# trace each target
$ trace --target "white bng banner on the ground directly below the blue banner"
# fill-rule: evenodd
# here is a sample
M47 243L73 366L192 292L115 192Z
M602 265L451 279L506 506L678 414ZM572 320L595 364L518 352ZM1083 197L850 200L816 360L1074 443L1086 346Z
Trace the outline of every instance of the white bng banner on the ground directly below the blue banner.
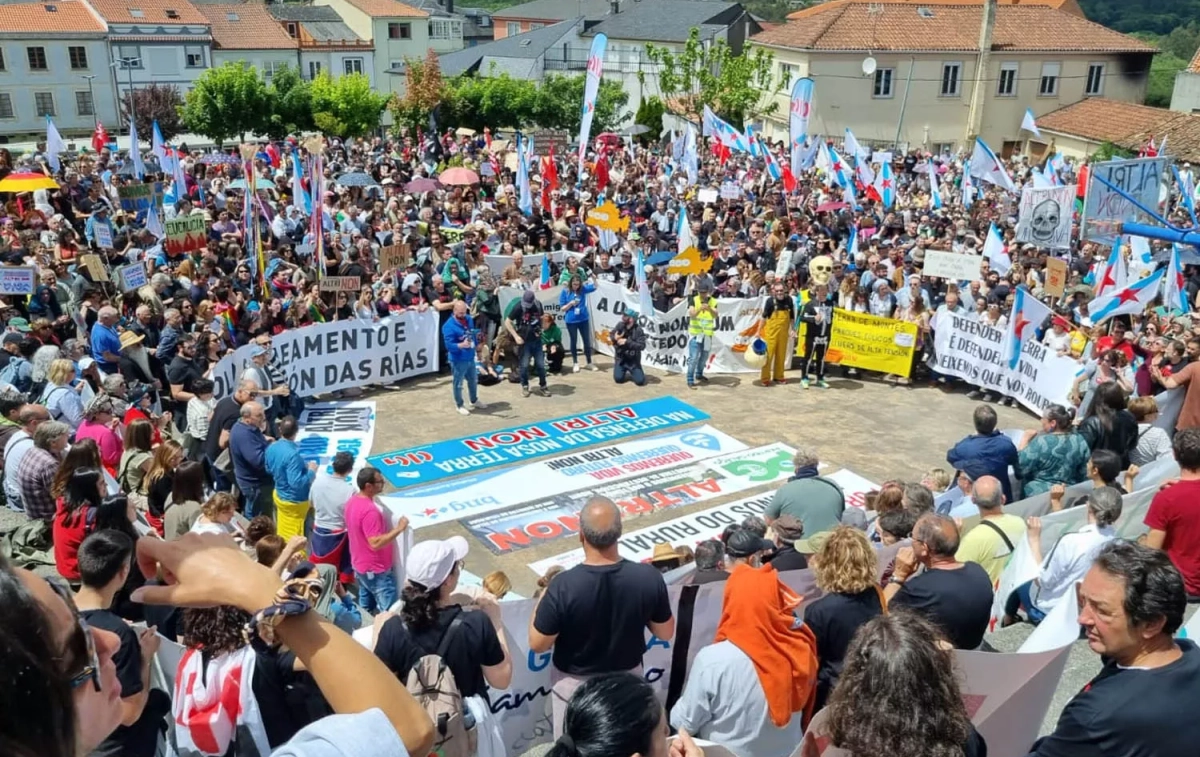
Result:
M733 464L745 449L746 445L737 439L701 426L403 489L380 497L380 501L396 517L404 516L414 529L420 529L504 510L538 497L557 497L589 487L625 492L618 482L635 476L686 469L698 477L704 470L701 461L718 458L710 464L715 465L718 461Z

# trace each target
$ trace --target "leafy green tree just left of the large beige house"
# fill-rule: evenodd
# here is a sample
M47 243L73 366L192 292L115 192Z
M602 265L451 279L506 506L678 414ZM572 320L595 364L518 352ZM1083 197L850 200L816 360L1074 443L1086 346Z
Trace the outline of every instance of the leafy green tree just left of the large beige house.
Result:
M706 46L692 29L682 50L647 43L646 54L660 66L659 89L671 110L694 121L706 104L737 127L779 109L775 95L786 82L773 77L775 56L761 47L734 55L725 40Z

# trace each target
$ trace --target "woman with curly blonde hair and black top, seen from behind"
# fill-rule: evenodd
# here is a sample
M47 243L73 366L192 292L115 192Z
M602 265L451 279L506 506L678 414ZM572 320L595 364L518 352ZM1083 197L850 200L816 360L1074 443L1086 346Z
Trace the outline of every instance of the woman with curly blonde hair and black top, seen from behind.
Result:
M902 511L895 511L902 512ZM812 555L812 573L824 595L804 608L804 625L817 639L816 709L829 701L854 633L884 612L878 557L866 535L845 525L834 529Z

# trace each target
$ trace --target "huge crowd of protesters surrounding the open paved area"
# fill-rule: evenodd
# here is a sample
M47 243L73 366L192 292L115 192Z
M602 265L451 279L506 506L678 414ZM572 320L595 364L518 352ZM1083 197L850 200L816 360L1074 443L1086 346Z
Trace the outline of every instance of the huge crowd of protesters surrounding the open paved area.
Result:
M162 217L157 206L121 209L122 186L160 178L137 175L128 156L108 150L54 156L64 163L58 188L2 197L0 259L37 277L28 296L0 302L4 495L29 518L16 560L41 547L62 581L0 566L0 603L11 609L0 620L8 639L0 752L149 756L170 723L162 738L181 753L425 755L434 740L445 746L446 729L432 727L427 698L404 683L412 690L422 659L437 654L463 698L446 714L451 732L473 733L469 747L450 741L466 749L455 755L503 755L503 743L485 738L496 729L490 692L512 680L494 596L503 589L460 585L461 539L418 542L397 585L394 545L408 523L386 523L380 473L352 475L344 453L318 471L294 441L302 401L272 352L286 330L432 308L439 367L452 373L455 409L467 414L481 405L480 385L510 378L530 396L547 392L548 374L599 367L588 298L601 281L640 290L644 274L655 312L688 306L692 389L708 383L714 296L763 298L768 344L805 325L803 387L830 386L823 340L833 306L917 324L911 377L883 378L949 386L924 367L941 316L1002 328L1016 287L1043 296L1054 254L1068 258L1069 281L1062 298L1046 298L1055 317L1039 338L1080 361L1072 387L1080 407L1054 405L1039 429L1004 444L995 411L980 405L977 434L948 455L953 475L882 487L870 523L818 475L815 453L798 455L769 518L696 546L696 578L725 582L724 609L667 713L636 675L646 631L676 633L666 584L653 566L619 557L618 509L589 501L586 559L547 577L529 623L529 649L553 649L552 752L695 757L692 732L738 755L784 757L816 723L856 755L986 753L949 650L980 647L1004 559L1015 540L1037 542L1038 522L1003 512L1021 493L1009 470L1025 494L1049 492L1055 510L1086 507L1087 525L1007 597L1006 623L1022 612L1037 621L1078 583L1079 621L1105 659L1034 753L1182 755L1200 743L1186 693L1200 656L1171 638L1188 597L1200 596L1194 269L1184 271L1186 311L1093 324L1087 300L1108 248L1015 244L1015 198L992 185L970 206L953 199L932 209L930 173L958 194L965 161L919 151L898 154L892 206L866 194L839 206L845 192L818 169L787 191L761 158L722 150L704 150L690 181L665 143L600 142L583 174L569 158L553 172L535 166L528 188L491 134L329 140L320 192L293 175L293 152L301 164L316 157L295 140L259 145L246 176L238 157L172 150L184 181L162 178L172 198ZM50 157L0 150L0 179L53 173ZM437 178L436 162L461 163L478 181L414 185ZM1032 181L1026 160L1009 168ZM1055 170L1069 184L1085 167ZM1186 214L1180 187L1193 186L1184 172L1166 198L1176 218ZM341 181L347 174L367 180ZM698 199L697 187L725 182L737 199ZM263 187L251 202L239 188L247 184ZM586 223L606 200L629 217L629 232ZM204 218L200 250L168 248L151 230L185 215ZM991 223L1004 265L985 260L968 282L922 275L925 251L980 253ZM636 270L677 250L680 234L710 262L704 274ZM380 270L380 250L396 245L402 265ZM550 257L548 277L523 265L536 253ZM490 254L509 256L498 276ZM121 292L113 271L139 262L148 283ZM322 292L325 276L358 278L358 294ZM550 282L563 286L566 344L538 302ZM523 290L503 311L502 286ZM644 383L641 324L653 317L626 311L614 331L616 380ZM250 347L250 361L217 398L214 371L239 347ZM772 358L762 385L786 381L787 361ZM1177 386L1186 397L1176 427L1159 428L1153 397ZM1114 539L1121 492L1139 465L1165 457L1182 475L1151 505L1145 546ZM1084 501L1063 501L1064 487L1088 480L1096 488ZM980 516L980 525L962 533L964 516ZM895 545L881 566L880 549ZM799 597L776 570L803 567L823 596L799 623ZM374 654L344 633L364 625L364 613L374 619ZM150 685L154 630L186 648L170 692ZM235 702L214 713L233 690ZM671 728L679 738L668 744Z

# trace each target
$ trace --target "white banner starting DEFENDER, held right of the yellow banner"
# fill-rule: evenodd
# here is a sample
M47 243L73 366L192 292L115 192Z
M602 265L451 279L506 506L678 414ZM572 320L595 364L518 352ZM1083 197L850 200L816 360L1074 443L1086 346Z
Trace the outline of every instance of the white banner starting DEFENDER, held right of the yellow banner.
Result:
M1030 340L1021 346L1016 368L1003 359L1004 332L964 316L943 313L934 341L935 371L1004 397L1013 397L1039 415L1051 404L1070 405L1067 395L1079 364Z

